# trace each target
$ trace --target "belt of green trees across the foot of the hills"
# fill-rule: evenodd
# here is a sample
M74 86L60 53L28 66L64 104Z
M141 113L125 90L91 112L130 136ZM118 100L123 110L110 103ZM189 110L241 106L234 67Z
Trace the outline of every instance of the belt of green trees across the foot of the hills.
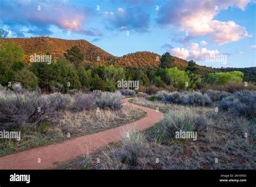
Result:
M35 40L39 39L35 38ZM43 40L48 40L48 38ZM104 54L103 59L102 56L99 56L99 63L88 64L84 62L90 60L91 57L88 59L83 47L79 48L74 45L65 50L65 58L56 58L55 56L51 63L33 62L28 65L26 63L28 59L26 59L21 46L2 41L0 47L0 84L11 88L15 82L20 82L23 88L30 90L35 90L38 85L46 93L54 92L58 84L63 84L61 90L63 93L73 89L114 92L117 90L118 81L131 80L139 81L139 91L155 94L160 90L191 91L211 86L225 87L230 83L241 83L244 76L240 71L228 71L226 73L204 71L205 69L199 67L193 60L188 63L180 61L183 64L181 68L176 63L178 58L169 53L159 56L146 52L148 55L146 56L139 52L124 55L119 60L113 57L112 61L110 60L111 63L106 63L108 55ZM43 53L40 54L43 55ZM51 55L49 52L45 52L45 54ZM137 61L143 58L145 61L150 58L158 64L157 66L142 68L117 66L122 59L132 61L131 57L134 55L139 56ZM93 61L97 61L97 59L93 59ZM133 62L129 63L133 64ZM252 84L248 83L248 85ZM244 89L255 90L256 88L255 86L248 86Z

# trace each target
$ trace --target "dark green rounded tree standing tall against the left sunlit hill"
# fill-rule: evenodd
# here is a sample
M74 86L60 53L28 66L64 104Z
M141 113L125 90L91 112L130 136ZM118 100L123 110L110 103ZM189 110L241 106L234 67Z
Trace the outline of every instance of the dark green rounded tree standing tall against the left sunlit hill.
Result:
M84 54L77 46L73 46L71 49L68 49L66 53L64 53L64 56L70 62L75 64L76 67L84 61Z

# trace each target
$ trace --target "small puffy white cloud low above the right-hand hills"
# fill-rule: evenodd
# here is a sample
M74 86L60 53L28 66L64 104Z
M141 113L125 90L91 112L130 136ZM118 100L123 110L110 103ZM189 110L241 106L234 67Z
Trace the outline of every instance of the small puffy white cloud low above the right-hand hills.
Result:
M203 47L200 48L197 43L191 44L188 49L186 48L172 48L170 53L174 56L178 56L181 59L185 60L205 60L206 56L214 56L214 55L219 55L218 50L208 50L207 48Z

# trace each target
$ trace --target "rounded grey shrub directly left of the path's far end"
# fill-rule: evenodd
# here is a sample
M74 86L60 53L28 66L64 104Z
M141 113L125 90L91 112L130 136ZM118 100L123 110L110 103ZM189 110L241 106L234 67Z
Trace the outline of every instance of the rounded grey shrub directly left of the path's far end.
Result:
M122 95L119 91L116 92L101 92L95 99L95 104L100 108L109 108L119 110L122 107Z

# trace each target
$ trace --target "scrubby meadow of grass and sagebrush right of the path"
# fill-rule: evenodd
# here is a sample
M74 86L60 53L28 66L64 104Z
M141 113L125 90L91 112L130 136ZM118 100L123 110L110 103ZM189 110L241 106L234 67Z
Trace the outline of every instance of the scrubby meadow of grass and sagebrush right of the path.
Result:
M160 91L132 103L159 109L164 119L61 169L255 169L256 92ZM218 110L216 110L218 109ZM197 140L175 132L196 131ZM98 162L100 160L100 162Z

